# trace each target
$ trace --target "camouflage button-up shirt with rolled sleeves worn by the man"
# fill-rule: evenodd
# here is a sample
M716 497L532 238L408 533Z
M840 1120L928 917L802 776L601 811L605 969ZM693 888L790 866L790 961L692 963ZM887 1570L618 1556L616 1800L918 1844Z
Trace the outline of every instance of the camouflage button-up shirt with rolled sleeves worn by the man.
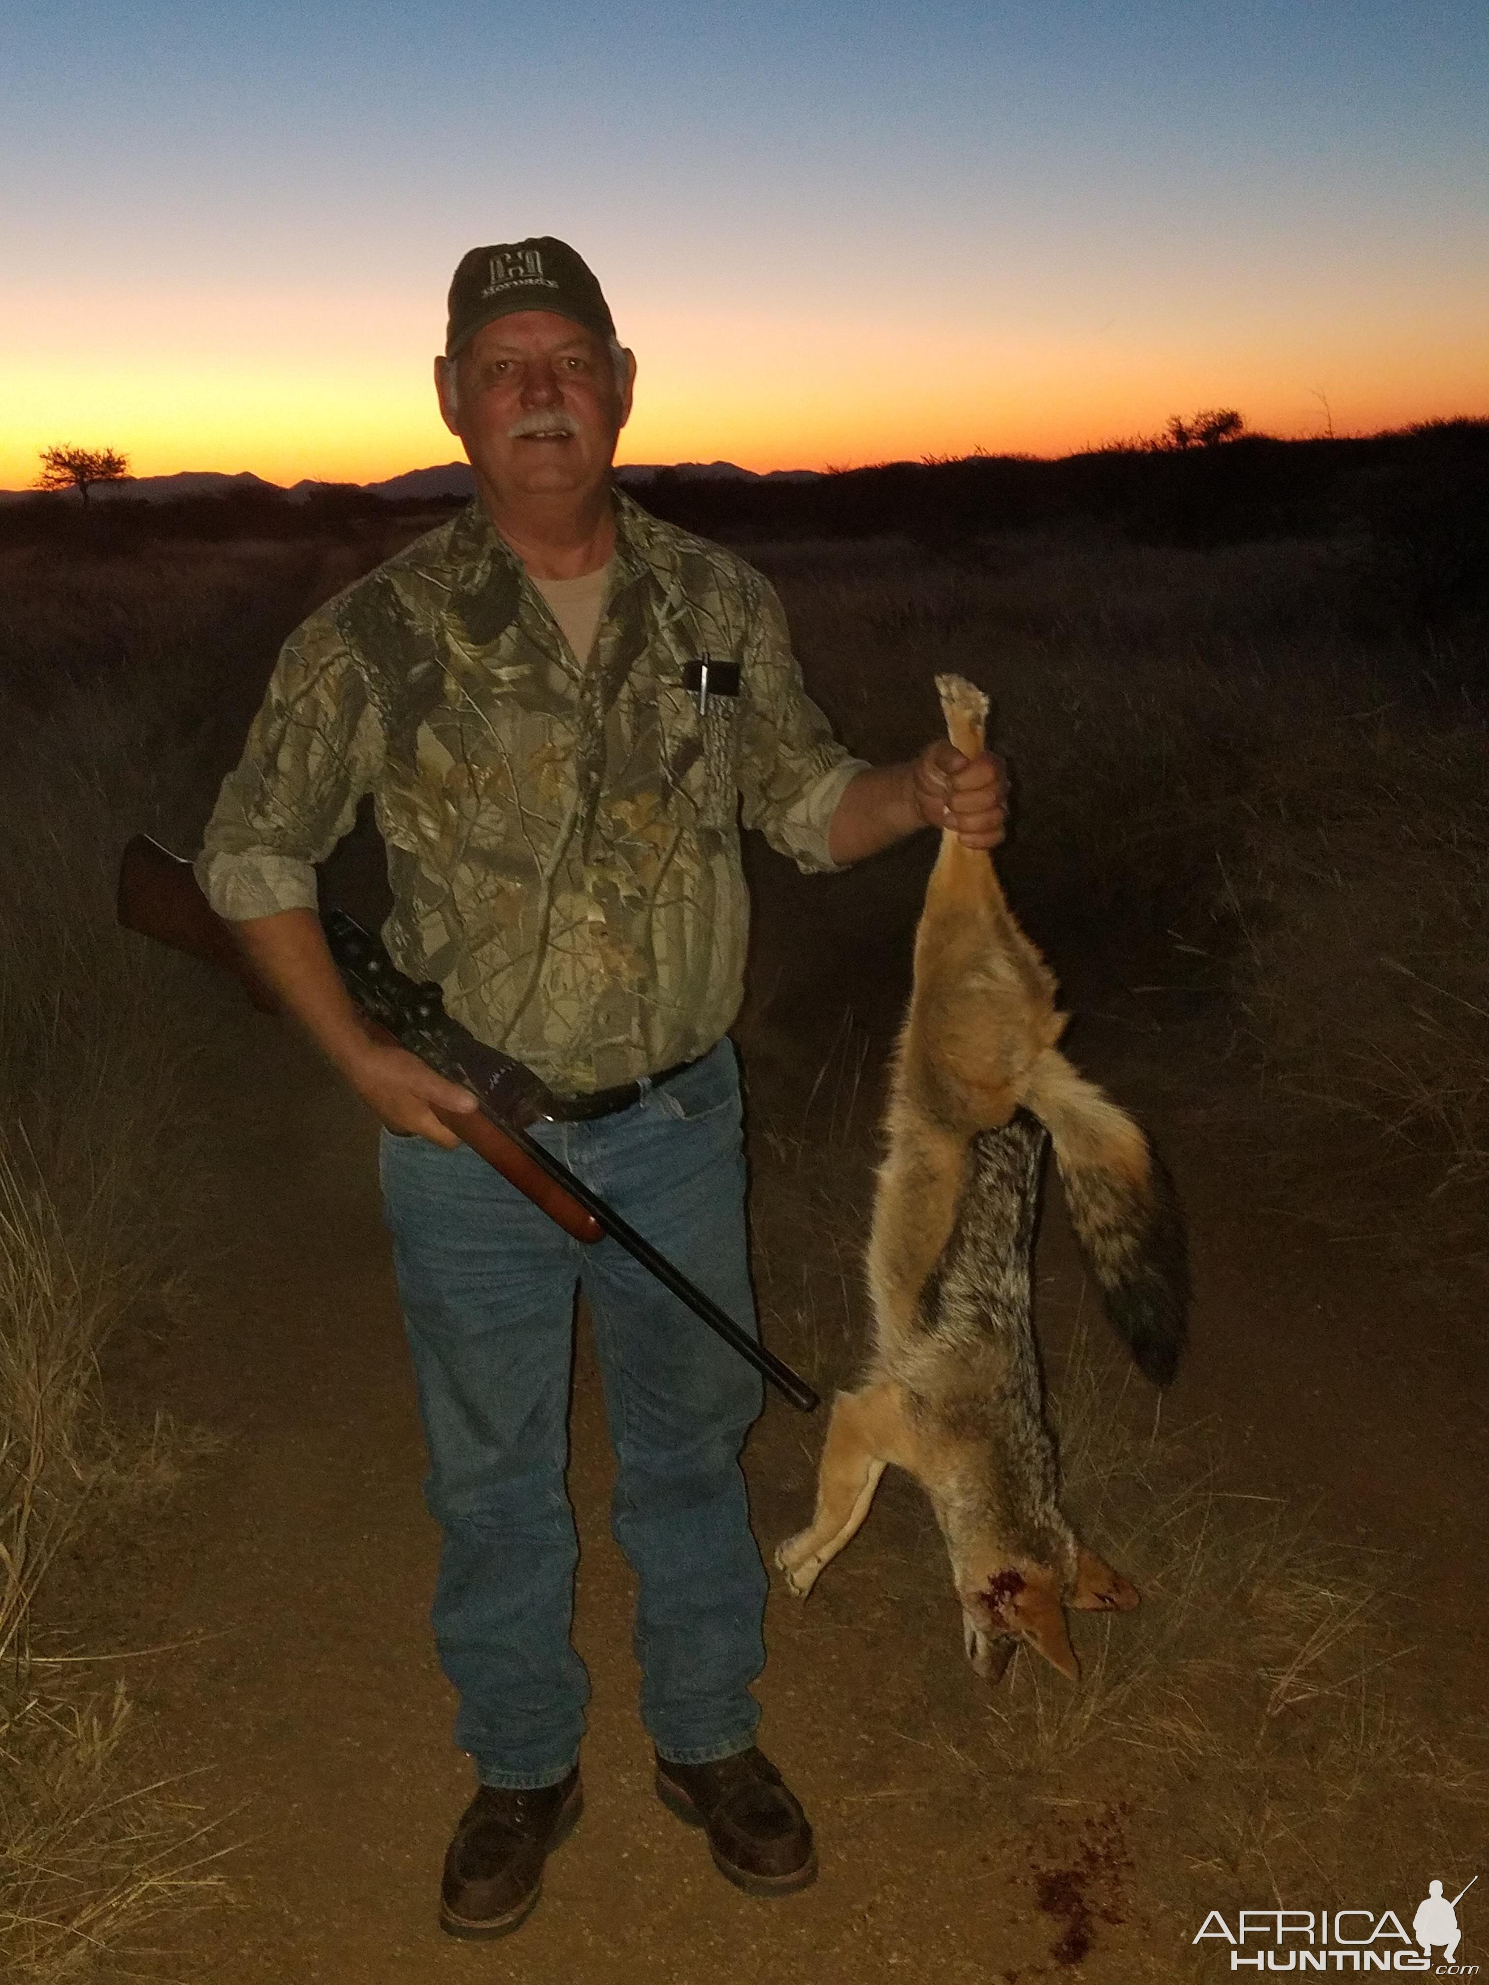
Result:
M615 494L588 667L471 504L284 645L197 873L230 919L316 905L373 796L401 971L556 1090L691 1060L744 975L741 814L804 869L862 760L802 689L768 582ZM687 665L739 663L739 695ZM715 671L717 675L717 671Z

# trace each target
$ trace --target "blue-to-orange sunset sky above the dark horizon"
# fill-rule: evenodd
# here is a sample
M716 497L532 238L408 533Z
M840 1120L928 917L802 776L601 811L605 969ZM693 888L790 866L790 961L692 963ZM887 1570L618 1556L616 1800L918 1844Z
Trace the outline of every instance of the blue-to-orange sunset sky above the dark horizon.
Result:
M1485 0L0 4L0 486L459 453L476 242L560 234L621 461L1489 413Z

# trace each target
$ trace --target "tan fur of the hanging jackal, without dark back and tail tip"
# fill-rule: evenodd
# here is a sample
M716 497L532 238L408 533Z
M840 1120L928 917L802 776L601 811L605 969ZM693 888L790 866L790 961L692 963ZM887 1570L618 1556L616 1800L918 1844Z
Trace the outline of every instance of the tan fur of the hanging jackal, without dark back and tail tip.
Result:
M961 677L937 677L937 689L951 742L975 756L987 697ZM1018 1108L1048 1127L1068 1189L1094 1181L1104 1219L1086 1237L1090 1253L1106 1249L1120 1262L1134 1245L1134 1209L1153 1189L1148 1141L1056 1050L1064 1016L1054 991L991 858L943 834L883 1125L887 1155L868 1245L870 1368L834 1401L812 1522L776 1552L786 1584L804 1598L868 1517L883 1469L905 1469L947 1540L969 1659L993 1679L1018 1644L1074 1679L1064 1606L1138 1604L1054 1505L1052 1443L1036 1380L1018 1364L1016 1332L957 1334L921 1314L959 1219L973 1139L1009 1125ZM1048 1487L1022 1497L1024 1475Z

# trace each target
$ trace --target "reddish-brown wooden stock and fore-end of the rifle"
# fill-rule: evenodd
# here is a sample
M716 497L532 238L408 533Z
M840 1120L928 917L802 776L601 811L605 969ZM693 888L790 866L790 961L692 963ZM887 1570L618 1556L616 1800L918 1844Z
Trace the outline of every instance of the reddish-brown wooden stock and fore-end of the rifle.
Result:
M173 951L185 951L234 973L260 1012L284 1012L284 1002L248 963L232 925L218 917L203 895L191 861L173 856L149 834L135 834L125 846L119 863L119 923L125 931L155 939L157 945L169 945ZM365 1014L363 1026L373 1040L399 1046L385 1026ZM435 1110L435 1116L461 1143L469 1143L510 1185L526 1193L566 1235L576 1241L598 1241L604 1235L594 1213L550 1179L490 1118L453 1116L443 1110Z

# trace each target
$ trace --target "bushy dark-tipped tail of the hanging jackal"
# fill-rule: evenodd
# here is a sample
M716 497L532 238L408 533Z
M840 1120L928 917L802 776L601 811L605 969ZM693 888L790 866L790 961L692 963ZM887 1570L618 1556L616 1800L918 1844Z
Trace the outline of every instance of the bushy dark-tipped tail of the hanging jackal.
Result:
M1167 1167L1126 1110L1054 1048L1036 1058L1020 1102L1050 1133L1106 1314L1144 1378L1167 1386L1189 1306L1189 1253Z

